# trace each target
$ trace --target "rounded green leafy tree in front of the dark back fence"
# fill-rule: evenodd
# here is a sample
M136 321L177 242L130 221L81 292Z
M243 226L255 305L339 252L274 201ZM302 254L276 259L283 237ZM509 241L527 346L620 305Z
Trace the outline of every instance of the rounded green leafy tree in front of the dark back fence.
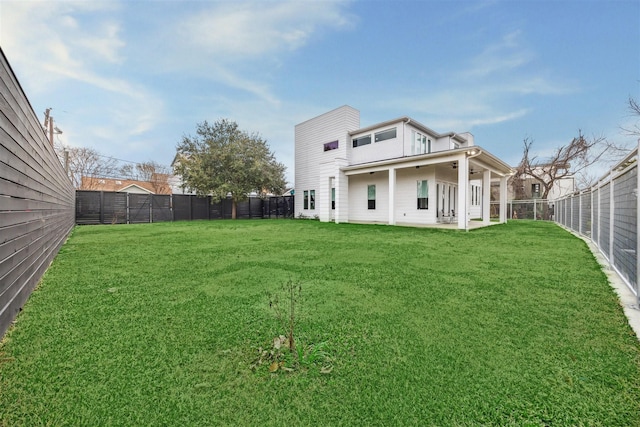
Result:
M174 171L182 176L185 188L213 200L231 196L234 219L237 202L250 193L280 194L285 189L285 166L276 161L267 142L240 130L233 121L199 123L196 135L184 136L177 152Z

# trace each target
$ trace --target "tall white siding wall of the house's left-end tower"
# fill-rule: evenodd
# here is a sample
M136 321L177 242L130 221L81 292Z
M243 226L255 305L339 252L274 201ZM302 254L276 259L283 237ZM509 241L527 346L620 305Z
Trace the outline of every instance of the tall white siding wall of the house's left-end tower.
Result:
M329 215L331 189L326 190L330 176L338 176L339 166L347 159L351 144L348 132L360 128L360 112L347 105L336 108L295 127L295 213L307 217ZM324 151L324 144L338 141L338 149ZM321 173L322 172L322 173ZM338 183L345 180L337 180ZM304 191L315 190L315 209L303 209ZM322 191L321 191L322 190ZM346 188L341 189L345 197ZM336 188L336 193L338 189Z

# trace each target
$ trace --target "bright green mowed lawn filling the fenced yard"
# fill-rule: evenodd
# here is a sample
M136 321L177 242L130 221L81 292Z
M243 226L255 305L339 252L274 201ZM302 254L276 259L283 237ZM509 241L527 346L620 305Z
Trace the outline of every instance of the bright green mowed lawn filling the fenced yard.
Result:
M251 369L296 337L333 369ZM640 346L584 242L316 221L74 230L0 347L0 425L640 425Z

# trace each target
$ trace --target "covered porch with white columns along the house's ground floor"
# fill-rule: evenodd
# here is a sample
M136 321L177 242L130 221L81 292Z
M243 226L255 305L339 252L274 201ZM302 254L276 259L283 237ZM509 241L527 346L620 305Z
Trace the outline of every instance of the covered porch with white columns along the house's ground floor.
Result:
M335 213L331 216L336 222L463 230L489 226L496 223L490 218L491 183L498 182L498 200L493 202L500 203L497 223L504 223L507 220L507 179L512 173L509 165L479 146L344 166L340 168L337 179L329 184L334 186L335 193L343 196L336 198L338 202L333 205ZM420 179L428 182L428 188L424 190L428 205L416 210L415 183ZM363 210L358 213L352 206L356 205L353 196L348 196L354 190L362 193L362 183L365 182L377 182L379 193L382 193L377 196L381 203L375 215ZM339 201L349 202L348 218L342 214L344 204Z

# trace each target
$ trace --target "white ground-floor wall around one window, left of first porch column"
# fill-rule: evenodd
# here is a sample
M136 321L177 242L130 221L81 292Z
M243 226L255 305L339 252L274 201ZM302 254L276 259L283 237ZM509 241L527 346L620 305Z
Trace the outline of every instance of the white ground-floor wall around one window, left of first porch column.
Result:
M376 208L368 208L368 186L376 186ZM397 197L396 197L397 200ZM387 224L389 221L389 174L349 176L349 222Z

